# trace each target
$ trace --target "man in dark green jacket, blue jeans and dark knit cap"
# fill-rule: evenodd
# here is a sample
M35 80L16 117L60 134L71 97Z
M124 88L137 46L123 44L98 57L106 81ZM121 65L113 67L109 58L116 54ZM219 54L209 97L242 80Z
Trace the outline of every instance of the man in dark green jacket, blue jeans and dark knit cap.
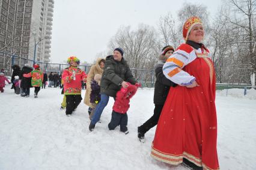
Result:
M121 87L127 88L130 82L133 85L136 83L130 71L129 65L123 58L124 51L121 48L116 48L113 55L106 57L102 80L100 82L100 97L101 100L95 108L93 119L91 120L89 130L93 131L95 124L99 121L103 109L108 105L109 96L114 97Z

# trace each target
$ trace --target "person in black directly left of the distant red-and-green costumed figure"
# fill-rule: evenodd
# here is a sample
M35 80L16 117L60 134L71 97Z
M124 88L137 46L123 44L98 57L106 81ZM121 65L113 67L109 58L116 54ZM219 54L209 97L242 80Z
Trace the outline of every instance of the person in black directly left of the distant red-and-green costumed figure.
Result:
M25 64L22 67L22 70L20 71L19 79L21 80L20 88L22 90L22 93L20 93L20 96L22 96L22 97L29 97L30 88L32 87L31 86L31 77L23 77L23 74L28 74L32 70L33 70L32 67L29 67L28 64Z

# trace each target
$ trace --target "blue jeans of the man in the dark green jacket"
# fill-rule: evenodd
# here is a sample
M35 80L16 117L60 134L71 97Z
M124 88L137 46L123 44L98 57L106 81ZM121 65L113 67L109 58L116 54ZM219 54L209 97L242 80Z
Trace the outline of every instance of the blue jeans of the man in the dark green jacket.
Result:
M101 94L100 103L95 108L95 112L93 115L93 120L91 120L92 124L96 124L97 121L100 120L100 116L102 115L103 109L108 105L109 96L106 94Z

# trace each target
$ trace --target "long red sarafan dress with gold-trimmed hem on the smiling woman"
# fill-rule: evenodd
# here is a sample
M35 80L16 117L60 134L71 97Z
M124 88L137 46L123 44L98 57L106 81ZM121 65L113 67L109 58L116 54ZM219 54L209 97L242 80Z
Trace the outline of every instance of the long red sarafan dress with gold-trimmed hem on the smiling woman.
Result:
M178 165L184 157L204 169L219 169L216 149L216 80L208 52L207 49L195 50L185 44L176 51L180 59L175 59L175 52L174 59L168 59L176 65L183 65L181 58L187 61L194 53L195 58L181 68L193 75L200 86L171 87L152 144L151 156L157 160ZM173 76L178 71L172 71L169 75Z

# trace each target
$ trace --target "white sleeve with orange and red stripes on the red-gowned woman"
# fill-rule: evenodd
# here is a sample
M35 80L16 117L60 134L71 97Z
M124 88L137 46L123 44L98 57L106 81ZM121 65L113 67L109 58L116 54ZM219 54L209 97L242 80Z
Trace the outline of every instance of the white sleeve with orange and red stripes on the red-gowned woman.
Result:
M182 68L194 61L197 55L194 49L188 44L181 44L177 50L166 60L163 65L163 74L169 80L178 85L190 85L194 82L195 77L183 71Z

